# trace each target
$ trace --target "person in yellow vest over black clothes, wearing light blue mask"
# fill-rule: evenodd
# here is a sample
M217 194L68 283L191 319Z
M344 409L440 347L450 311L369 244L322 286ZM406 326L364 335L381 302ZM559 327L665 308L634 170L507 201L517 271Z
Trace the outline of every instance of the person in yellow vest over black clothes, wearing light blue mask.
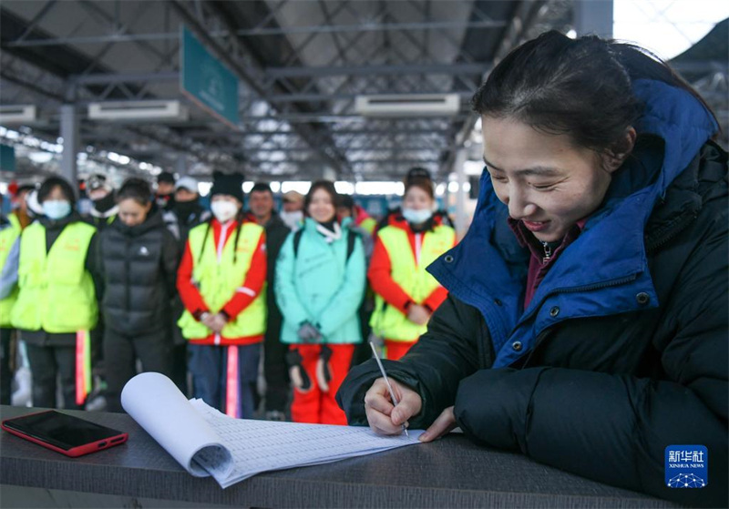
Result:
M91 388L89 332L97 324L97 229L75 211L66 180L49 177L38 189L43 215L15 241L17 299L11 325L26 342L33 404L56 407L56 377L65 408L82 408ZM15 284L3 282L0 297Z

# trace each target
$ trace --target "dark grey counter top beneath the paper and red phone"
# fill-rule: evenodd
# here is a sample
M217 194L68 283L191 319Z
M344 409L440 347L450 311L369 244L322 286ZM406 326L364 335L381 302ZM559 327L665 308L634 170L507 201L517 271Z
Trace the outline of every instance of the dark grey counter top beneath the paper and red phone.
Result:
M40 409L0 406L8 419ZM187 473L131 417L68 412L129 433L128 443L68 458L0 433L0 484L252 507L676 507L595 483L451 433L336 463L260 473L222 489Z

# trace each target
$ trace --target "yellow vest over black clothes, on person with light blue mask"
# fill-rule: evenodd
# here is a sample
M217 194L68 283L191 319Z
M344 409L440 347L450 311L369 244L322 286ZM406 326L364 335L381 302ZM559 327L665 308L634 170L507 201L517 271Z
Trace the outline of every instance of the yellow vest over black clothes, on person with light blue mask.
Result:
M96 326L96 290L85 266L95 232L87 223L71 223L46 252L46 228L40 222L23 231L13 327L60 334Z

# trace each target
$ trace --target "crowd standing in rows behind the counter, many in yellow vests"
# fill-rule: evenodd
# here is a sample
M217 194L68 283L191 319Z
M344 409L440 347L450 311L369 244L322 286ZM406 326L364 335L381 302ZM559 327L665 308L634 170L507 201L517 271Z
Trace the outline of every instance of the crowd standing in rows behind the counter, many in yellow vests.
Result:
M455 230L423 168L379 224L330 181L284 193L281 211L268 184L242 184L215 172L210 209L168 172L156 189L92 175L90 207L63 178L15 188L0 219L3 404L19 340L34 406L91 394L122 412L125 383L151 371L233 417L346 424L334 394L371 354L360 345L374 331L397 359L417 341L446 297L426 266Z

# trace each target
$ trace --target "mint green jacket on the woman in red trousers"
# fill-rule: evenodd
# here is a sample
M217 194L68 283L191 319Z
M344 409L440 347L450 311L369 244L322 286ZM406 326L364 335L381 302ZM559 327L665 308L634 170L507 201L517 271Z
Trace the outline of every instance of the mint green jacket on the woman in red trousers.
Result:
M362 342L357 310L364 296L366 267L362 240L354 240L347 259L350 221L342 225L342 237L327 244L307 218L294 256L290 233L276 261L276 303L283 315L281 341L301 343L297 331L309 321L332 344Z

